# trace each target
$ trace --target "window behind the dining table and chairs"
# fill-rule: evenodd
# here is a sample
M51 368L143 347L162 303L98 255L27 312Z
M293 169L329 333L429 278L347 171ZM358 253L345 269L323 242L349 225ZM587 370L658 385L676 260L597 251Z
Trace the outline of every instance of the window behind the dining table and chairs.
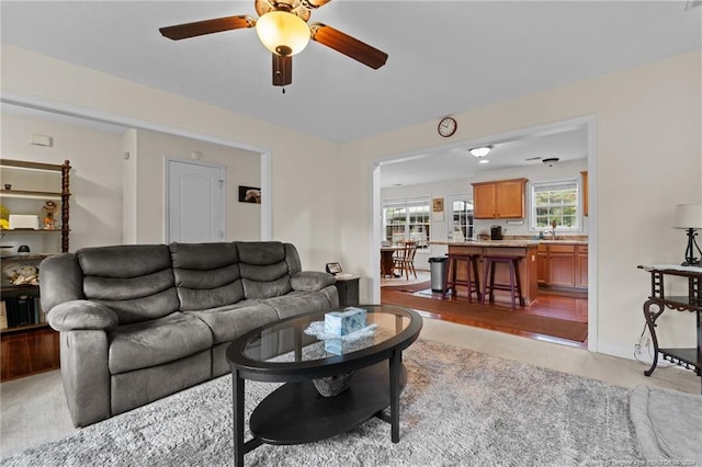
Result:
M385 241L393 244L410 240L417 248L429 248L431 228L431 200L394 200L383 203L383 225Z

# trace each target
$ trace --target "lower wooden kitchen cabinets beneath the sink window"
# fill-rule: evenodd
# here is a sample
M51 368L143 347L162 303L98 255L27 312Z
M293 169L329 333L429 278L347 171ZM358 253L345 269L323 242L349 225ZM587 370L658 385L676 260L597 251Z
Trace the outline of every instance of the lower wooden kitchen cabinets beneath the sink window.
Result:
M537 251L539 285L565 288L588 287L588 246L541 243Z

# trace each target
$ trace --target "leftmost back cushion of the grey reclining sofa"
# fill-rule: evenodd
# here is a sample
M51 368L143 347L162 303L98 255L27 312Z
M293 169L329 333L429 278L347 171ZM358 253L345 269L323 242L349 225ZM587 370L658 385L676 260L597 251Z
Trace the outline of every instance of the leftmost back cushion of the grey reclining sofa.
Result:
M117 315L120 324L178 311L179 301L165 244L121 244L76 252L83 273L83 295Z

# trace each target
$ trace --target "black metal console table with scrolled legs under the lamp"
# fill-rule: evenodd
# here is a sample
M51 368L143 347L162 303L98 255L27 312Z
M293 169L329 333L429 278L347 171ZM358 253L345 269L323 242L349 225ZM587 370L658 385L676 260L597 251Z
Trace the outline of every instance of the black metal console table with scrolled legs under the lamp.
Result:
M650 273L650 296L644 303L644 317L654 343L654 362L650 368L644 372L644 375L650 376L654 373L658 364L658 354L660 353L664 360L688 369L693 369L698 376L702 377L702 328L700 327L702 315L702 267L679 266L676 264L639 265L638 267ZM687 278L688 295L666 296L664 283L666 275ZM666 309L689 311L697 315L697 349L661 349L658 346L656 321Z

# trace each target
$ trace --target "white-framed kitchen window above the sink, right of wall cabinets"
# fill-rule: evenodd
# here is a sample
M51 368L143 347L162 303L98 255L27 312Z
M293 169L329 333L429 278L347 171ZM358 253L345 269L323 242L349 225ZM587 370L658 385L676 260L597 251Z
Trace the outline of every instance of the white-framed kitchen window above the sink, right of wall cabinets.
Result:
M531 228L559 230L580 229L580 190L577 180L534 183L531 189Z

